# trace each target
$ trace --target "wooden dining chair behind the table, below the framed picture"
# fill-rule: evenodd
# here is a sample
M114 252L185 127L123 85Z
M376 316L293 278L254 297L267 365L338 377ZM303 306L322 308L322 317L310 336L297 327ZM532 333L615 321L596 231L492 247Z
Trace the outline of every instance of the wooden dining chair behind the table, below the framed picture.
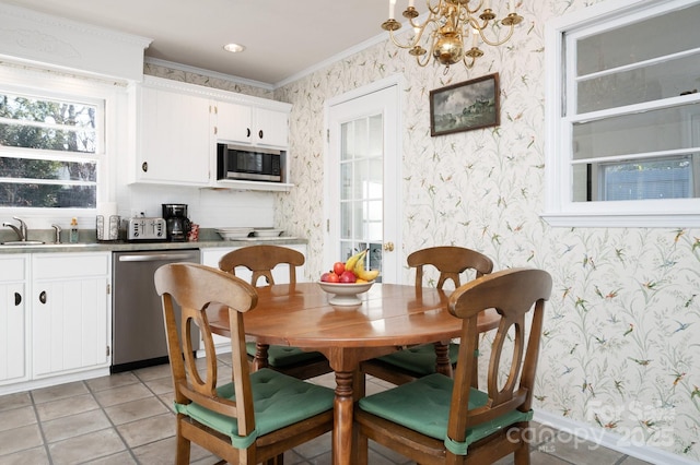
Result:
M459 276L467 270L475 271L475 277L491 273L491 259L475 250L464 247L431 247L412 252L407 259L408 265L416 269L416 287L423 286L423 267L433 266L439 272L435 287L442 289L445 282L452 279L455 288L459 287ZM438 356L448 357L453 367L457 362L459 345L421 344L393 354L362 362L365 374L380 378L393 384L404 384L417 378L435 372Z

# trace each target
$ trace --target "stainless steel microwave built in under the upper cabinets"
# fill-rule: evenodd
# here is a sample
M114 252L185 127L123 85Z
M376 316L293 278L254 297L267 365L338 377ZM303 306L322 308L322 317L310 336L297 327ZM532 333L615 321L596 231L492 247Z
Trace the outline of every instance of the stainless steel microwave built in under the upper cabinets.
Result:
M282 154L273 148L217 144L217 179L281 182Z

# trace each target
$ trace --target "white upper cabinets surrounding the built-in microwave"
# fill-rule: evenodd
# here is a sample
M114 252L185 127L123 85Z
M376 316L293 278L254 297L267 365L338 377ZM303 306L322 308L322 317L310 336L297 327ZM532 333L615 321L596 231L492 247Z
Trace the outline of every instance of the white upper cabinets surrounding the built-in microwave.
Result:
M217 179L217 144L275 147L287 157L290 104L177 81L144 76L131 90L135 136L129 181L289 190L282 182Z

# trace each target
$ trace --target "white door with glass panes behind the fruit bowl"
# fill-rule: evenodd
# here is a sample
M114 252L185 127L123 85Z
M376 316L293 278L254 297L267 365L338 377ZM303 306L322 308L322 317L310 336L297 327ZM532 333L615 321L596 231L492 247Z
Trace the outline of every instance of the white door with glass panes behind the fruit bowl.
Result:
M400 281L399 78L327 104L325 263L370 249L366 267Z

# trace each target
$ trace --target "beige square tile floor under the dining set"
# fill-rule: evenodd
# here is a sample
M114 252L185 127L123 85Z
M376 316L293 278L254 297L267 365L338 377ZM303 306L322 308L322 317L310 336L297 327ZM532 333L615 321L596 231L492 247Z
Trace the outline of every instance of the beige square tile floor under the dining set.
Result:
M225 356L220 357L226 375ZM332 375L313 380L334 386ZM388 384L370 379L368 393ZM88 381L0 396L0 465L173 464L175 421L167 365ZM639 465L645 462L592 443L578 443L539 426L532 463L542 465ZM329 433L289 451L288 465L330 464ZM218 460L192 444L191 462ZM499 465L512 464L504 458ZM376 443L370 464L411 464Z

